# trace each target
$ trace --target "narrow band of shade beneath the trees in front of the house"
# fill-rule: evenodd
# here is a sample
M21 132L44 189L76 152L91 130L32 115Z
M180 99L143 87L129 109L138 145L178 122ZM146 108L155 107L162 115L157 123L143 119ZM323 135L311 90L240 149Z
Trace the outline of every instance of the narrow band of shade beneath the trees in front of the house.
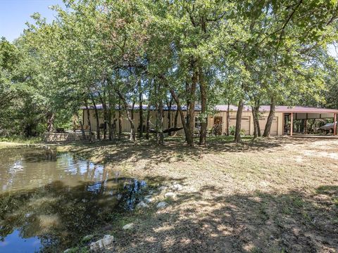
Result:
M132 143L111 144L106 141L96 143L73 143L70 151L82 157L96 157L99 162L138 162L151 160L154 164L160 162L199 160L203 155L210 153L248 153L259 152L271 148L281 147L282 141L277 139L259 139L251 141L246 139L242 143L234 143L229 138L213 138L208 146L196 145L189 147L178 141L167 141L165 145L157 145L154 141L142 141L137 145Z

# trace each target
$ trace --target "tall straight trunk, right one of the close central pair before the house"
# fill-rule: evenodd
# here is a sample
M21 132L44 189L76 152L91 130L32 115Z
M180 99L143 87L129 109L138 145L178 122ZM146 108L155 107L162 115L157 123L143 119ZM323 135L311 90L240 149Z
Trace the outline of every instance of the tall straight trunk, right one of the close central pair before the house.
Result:
M199 89L201 92L201 130L199 134L199 145L206 145L206 130L208 127L208 117L206 116L206 100L207 100L207 91L206 91L206 82L204 82L204 73L201 68L199 68Z

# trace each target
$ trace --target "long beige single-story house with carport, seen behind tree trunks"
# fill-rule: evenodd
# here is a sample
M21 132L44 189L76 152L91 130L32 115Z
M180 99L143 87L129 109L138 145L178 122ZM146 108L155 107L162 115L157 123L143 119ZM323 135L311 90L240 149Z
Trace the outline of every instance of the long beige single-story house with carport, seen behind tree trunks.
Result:
M235 126L236 125L236 114L237 114L237 106L230 105L229 110L229 126L227 126L227 105L216 105L215 106L215 113L214 115L208 116L208 129L211 129L215 124L220 124L222 129L222 134L227 132L227 127ZM104 128L104 112L102 105L96 105L96 109L99 110L99 124L100 128ZM146 111L146 105L143 106L143 110ZM83 110L83 122L84 122L84 129L88 131L89 124L87 120L87 112L86 108L82 108ZM184 113L186 113L186 108L182 108ZM139 107L137 105L134 106L134 125L135 128L139 126ZM270 112L270 105L262 105L259 109L261 112L261 117L259 119L259 125L261 128L261 133L263 134L266 121L268 119L268 114ZM174 119L175 114L177 112L176 106L173 106L170 110L170 117L171 117L171 126L174 126ZM196 106L195 108L195 127L198 128L199 126L199 113L201 112L201 108ZM130 131L130 122L127 120L125 116L125 112L123 113L123 120L122 120L122 131L129 132ZM150 121L153 124L151 127L154 127L156 121L156 110L154 108L150 109ZM167 107L163 108L163 124L164 128L169 128L168 126L168 113L169 110ZM307 122L306 119L334 119L334 122L337 121L337 113L338 110L335 109L326 109L326 108L309 108L309 107L301 107L301 106L284 106L278 105L275 108L275 117L273 118L273 124L271 126L270 135L271 136L282 136L284 134L292 135L293 133L293 126L292 122L295 119L303 119L304 122ZM92 125L92 131L96 130L96 118L94 108L89 108L89 115L90 115L90 122ZM116 119L116 130L118 131L118 113L115 115ZM113 119L112 119L113 122ZM144 114L144 128L146 124L146 115ZM306 124L306 123L305 123ZM182 127L182 121L180 116L177 117L177 127ZM337 124L334 125L335 129L337 129ZM242 113L242 129L244 129L246 135L253 135L253 117L251 112L251 107L244 106L244 110ZM337 132L337 131L336 131ZM334 132L334 134L336 133ZM178 131L178 134L184 134L183 130Z

